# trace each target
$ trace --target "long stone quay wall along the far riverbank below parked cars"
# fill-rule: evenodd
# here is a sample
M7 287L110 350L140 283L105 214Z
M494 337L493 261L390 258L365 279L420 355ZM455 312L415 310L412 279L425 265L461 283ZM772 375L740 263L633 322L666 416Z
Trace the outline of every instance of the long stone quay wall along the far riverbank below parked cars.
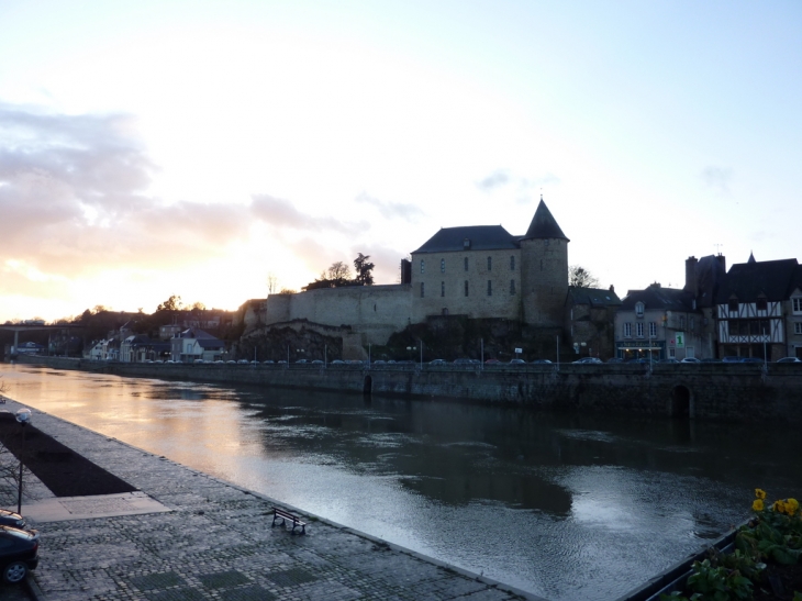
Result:
M27 364L126 377L182 379L354 393L452 398L533 410L630 413L731 422L802 423L802 369L794 364L220 365L105 364L21 357Z

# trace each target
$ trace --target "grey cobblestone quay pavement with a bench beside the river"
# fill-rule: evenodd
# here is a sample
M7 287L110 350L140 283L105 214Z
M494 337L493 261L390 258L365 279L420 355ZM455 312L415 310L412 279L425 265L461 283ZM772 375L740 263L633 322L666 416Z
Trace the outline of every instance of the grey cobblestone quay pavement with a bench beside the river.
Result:
M47 601L536 599L314 516L305 535L272 528L264 496L38 411L34 422L171 510L34 523Z

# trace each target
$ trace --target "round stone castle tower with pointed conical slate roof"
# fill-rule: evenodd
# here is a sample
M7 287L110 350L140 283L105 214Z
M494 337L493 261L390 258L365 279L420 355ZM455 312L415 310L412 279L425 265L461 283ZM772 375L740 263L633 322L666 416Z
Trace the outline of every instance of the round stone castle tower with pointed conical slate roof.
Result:
M568 243L543 202L521 238L523 320L539 327L560 327L568 294Z

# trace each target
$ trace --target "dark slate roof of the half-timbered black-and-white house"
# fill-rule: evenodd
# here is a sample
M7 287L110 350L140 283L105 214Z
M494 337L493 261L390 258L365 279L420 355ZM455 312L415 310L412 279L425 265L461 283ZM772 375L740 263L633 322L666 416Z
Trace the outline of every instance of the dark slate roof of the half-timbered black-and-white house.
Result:
M795 282L802 281L799 268L797 259L750 260L733 265L719 286L716 303L723 304L733 296L739 302L754 302L760 294L769 301L786 300Z

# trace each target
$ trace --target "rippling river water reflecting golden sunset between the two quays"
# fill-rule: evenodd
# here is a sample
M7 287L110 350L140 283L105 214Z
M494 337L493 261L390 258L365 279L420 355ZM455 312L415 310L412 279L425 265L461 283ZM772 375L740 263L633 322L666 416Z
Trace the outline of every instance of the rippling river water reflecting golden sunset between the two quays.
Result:
M2 365L5 394L550 600L610 600L800 497L792 429Z

